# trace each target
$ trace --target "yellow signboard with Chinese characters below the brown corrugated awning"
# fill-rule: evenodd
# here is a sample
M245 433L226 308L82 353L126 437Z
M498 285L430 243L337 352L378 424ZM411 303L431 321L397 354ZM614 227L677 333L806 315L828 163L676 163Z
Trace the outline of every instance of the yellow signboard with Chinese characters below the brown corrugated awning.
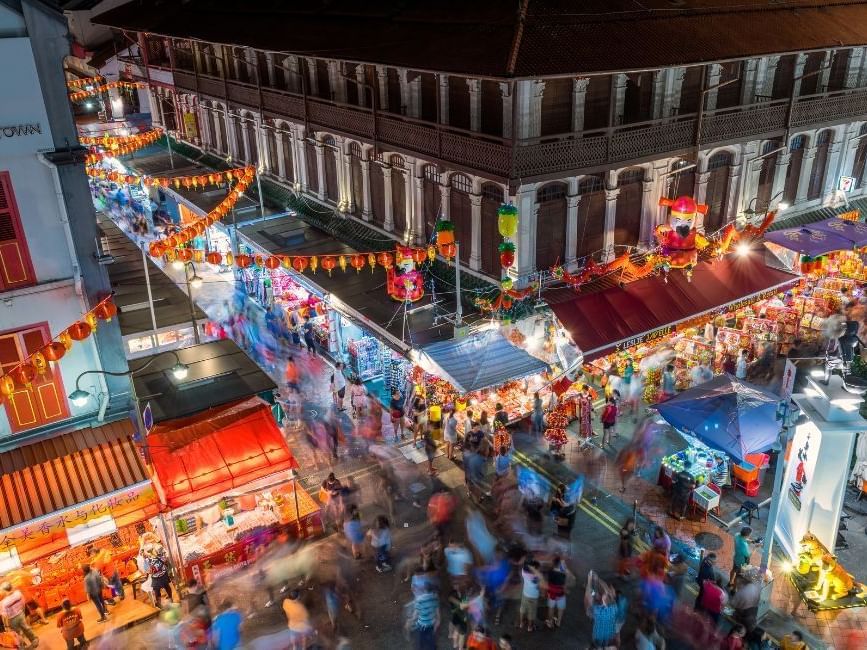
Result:
M93 522L102 523L108 517L120 528L155 514L156 504L153 484L139 483L0 531L0 553L14 548L22 561L31 561L66 548L86 528L92 528ZM73 531L71 536L69 531Z

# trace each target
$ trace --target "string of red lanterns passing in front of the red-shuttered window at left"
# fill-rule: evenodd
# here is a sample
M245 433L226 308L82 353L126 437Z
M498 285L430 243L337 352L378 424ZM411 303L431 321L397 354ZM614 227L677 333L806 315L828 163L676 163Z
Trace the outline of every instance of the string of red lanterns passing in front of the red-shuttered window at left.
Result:
M109 322L117 314L117 306L112 297L106 296L51 341L19 361L15 366L0 375L0 395L9 397L19 388L29 388L37 375L45 374L49 362L57 363L72 348L75 341L83 341L96 331L99 321Z

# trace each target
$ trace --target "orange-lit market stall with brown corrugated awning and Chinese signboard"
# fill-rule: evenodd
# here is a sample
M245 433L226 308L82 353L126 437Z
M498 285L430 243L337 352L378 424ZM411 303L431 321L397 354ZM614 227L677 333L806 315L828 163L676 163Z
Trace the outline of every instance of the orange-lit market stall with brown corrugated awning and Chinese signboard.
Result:
M0 455L7 504L0 509L0 575L43 610L65 598L87 600L81 567L95 551L122 580L136 572L130 560L159 503L132 433L129 421L119 421ZM141 605L133 619L152 612Z

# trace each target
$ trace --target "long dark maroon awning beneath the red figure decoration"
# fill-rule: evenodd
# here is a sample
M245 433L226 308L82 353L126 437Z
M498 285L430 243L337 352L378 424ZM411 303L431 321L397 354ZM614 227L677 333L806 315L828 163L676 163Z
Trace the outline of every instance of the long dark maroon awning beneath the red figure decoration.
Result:
M784 290L799 276L767 266L761 256L729 255L702 262L690 282L686 273L672 271L637 280L623 288L611 287L576 295L551 309L581 348L585 361L610 354L664 334L668 327L712 313L741 300L758 300ZM662 330L662 331L661 331Z

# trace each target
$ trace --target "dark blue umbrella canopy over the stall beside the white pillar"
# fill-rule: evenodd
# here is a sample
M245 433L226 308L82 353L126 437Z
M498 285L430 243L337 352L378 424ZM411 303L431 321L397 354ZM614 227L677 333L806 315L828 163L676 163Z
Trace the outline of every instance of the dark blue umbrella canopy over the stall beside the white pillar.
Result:
M780 397L732 375L719 375L655 408L675 429L742 462L777 441Z

